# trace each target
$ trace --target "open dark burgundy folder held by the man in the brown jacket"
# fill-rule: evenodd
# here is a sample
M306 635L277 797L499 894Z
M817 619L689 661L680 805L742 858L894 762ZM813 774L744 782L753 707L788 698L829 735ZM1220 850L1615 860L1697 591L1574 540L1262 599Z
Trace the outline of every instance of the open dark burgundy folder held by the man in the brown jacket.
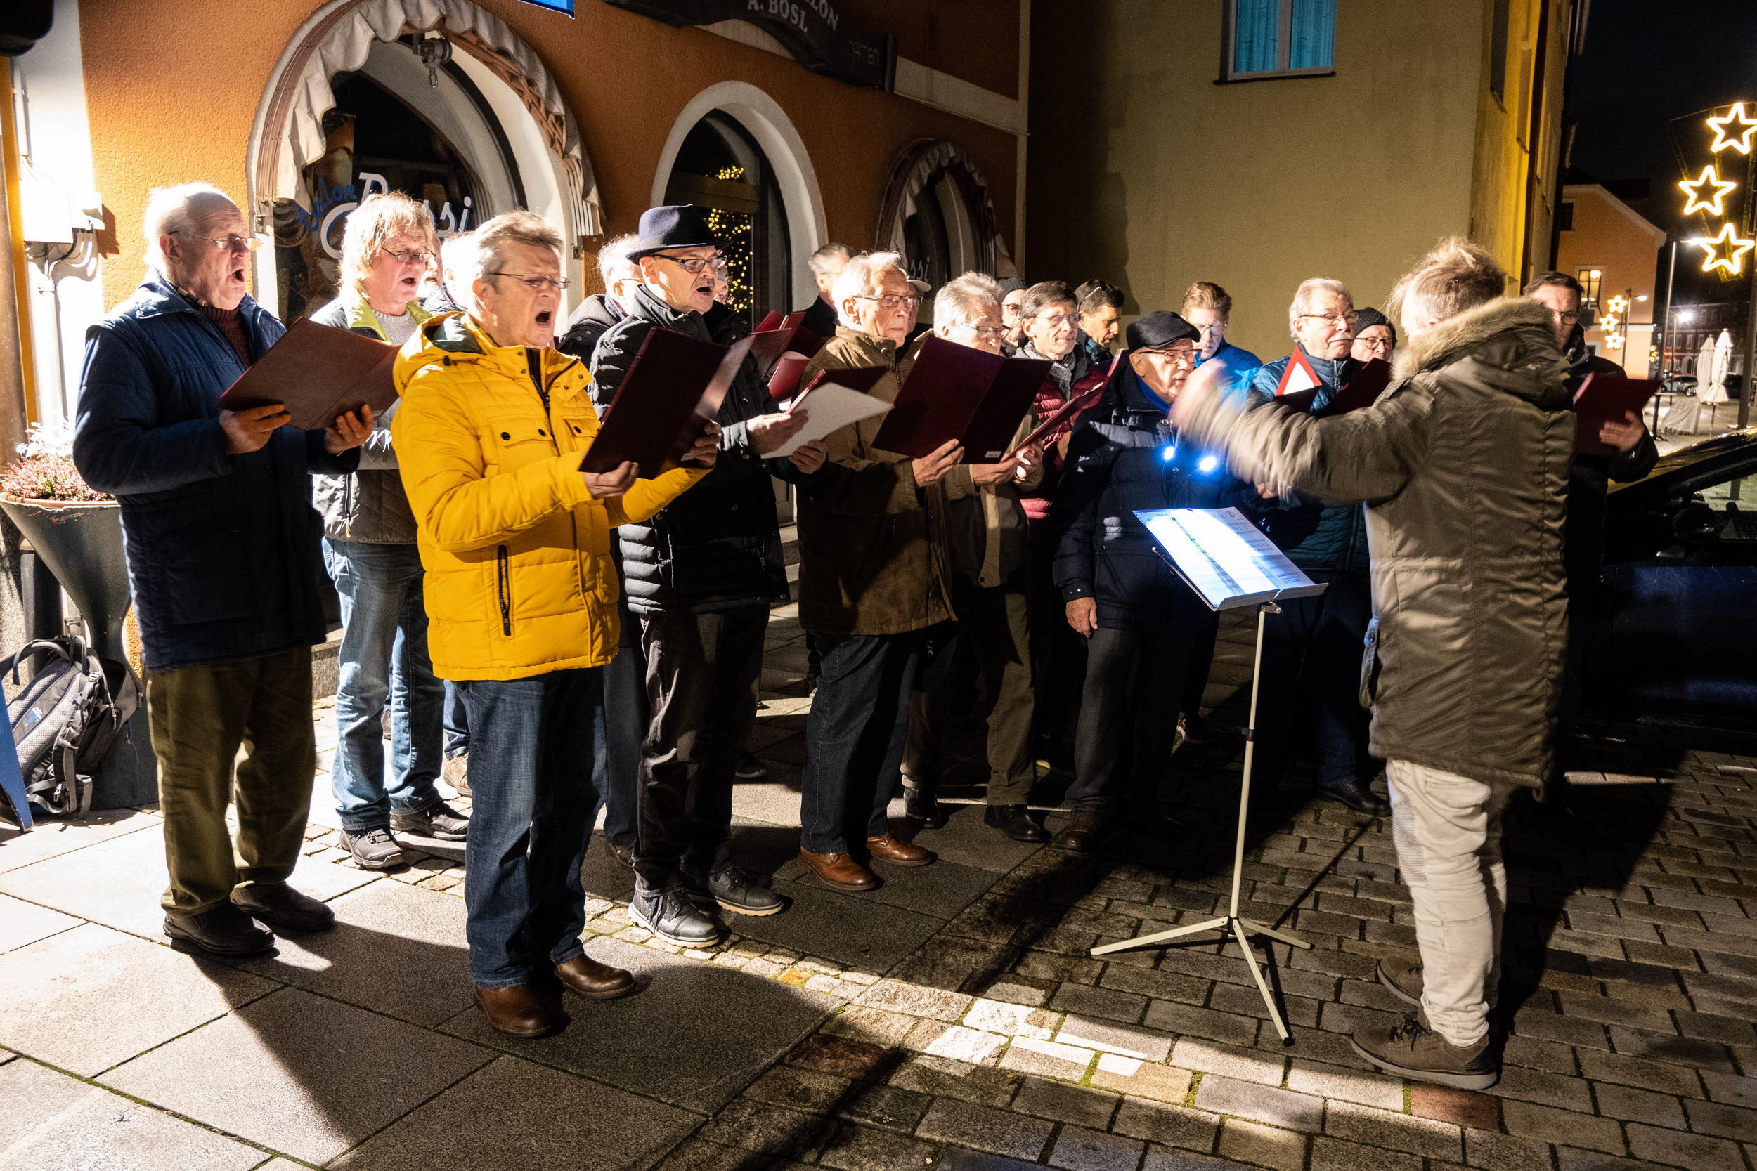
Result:
M947 439L958 439L965 446L965 463L998 463L1049 376L1049 365L1044 358L1001 358L929 337L873 446L919 460Z

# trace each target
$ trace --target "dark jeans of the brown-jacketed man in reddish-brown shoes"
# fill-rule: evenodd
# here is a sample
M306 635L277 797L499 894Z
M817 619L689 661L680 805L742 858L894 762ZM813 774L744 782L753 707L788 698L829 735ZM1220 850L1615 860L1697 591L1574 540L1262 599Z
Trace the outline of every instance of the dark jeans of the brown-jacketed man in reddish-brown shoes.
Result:
M817 636L824 664L805 718L799 778L805 850L849 853L850 839L864 846L891 832L887 809L903 781L922 634Z

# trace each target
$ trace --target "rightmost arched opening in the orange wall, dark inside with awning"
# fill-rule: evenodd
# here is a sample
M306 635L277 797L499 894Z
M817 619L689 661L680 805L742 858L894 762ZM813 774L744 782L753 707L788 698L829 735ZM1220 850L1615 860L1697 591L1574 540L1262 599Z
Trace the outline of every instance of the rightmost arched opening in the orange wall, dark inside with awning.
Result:
M987 179L956 142L917 142L903 151L891 170L873 244L901 253L908 274L935 290L965 272L1016 276L994 230ZM929 318L929 305L921 316Z

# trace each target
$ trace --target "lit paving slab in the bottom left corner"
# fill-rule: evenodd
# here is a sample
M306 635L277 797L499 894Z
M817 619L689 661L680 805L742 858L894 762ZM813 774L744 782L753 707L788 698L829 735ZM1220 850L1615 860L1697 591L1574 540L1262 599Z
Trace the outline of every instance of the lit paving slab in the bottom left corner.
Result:
M0 1066L0 1103L9 1104L0 1110L5 1171L246 1171L267 1159L255 1146L30 1060Z

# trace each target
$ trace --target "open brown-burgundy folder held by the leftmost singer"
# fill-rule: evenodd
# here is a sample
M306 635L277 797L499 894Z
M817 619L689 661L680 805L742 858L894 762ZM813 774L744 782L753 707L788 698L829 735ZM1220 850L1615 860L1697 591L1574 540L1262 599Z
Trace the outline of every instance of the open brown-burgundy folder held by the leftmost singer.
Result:
M372 407L383 414L397 400L390 377L397 348L353 330L299 318L257 363L227 386L221 411L248 411L279 402L292 425L318 430L337 414Z

